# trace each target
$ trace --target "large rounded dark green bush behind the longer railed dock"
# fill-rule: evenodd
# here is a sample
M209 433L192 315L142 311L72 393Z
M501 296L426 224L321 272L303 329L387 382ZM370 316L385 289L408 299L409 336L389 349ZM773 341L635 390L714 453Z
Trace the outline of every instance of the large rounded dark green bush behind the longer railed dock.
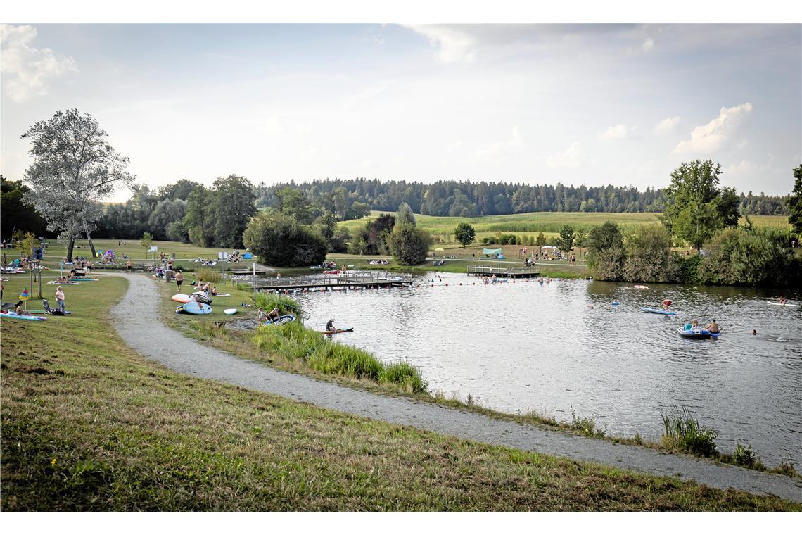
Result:
M243 234L245 246L267 265L316 265L326 259L326 239L310 225L281 213L259 213Z

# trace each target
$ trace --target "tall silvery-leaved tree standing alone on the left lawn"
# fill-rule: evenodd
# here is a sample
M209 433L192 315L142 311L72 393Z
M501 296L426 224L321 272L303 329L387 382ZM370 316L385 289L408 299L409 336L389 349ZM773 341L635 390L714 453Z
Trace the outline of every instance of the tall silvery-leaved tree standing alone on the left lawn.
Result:
M70 234L71 244L80 229L89 240L92 257L91 232L102 214L100 202L119 184L131 185L134 180L126 170L128 158L120 156L107 137L92 116L82 116L77 109L56 111L22 134L31 141L28 154L34 159L25 171L30 184L26 201L43 214L48 229Z

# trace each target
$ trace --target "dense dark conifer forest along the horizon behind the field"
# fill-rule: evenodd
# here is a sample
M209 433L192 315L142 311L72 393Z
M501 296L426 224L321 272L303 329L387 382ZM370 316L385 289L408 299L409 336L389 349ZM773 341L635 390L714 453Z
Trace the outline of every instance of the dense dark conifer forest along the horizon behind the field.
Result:
M349 219L354 202L373 210L395 211L406 202L415 213L431 216L476 217L527 212L662 212L665 189L633 186L565 186L563 184L512 184L506 182L462 182L439 180L434 184L357 178L313 180L265 185L254 188L257 207L277 206L277 193L298 189L314 205L341 220ZM788 215L788 196L740 194L743 214ZM355 213L354 213L355 215Z

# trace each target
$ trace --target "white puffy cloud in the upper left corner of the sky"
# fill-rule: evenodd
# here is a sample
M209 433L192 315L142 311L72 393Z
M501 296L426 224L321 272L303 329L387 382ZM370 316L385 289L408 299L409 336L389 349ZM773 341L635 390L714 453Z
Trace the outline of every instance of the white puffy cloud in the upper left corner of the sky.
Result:
M47 95L48 83L67 72L76 72L75 60L57 56L50 48L35 48L34 26L0 25L2 34L2 75L6 95L25 102L34 95Z

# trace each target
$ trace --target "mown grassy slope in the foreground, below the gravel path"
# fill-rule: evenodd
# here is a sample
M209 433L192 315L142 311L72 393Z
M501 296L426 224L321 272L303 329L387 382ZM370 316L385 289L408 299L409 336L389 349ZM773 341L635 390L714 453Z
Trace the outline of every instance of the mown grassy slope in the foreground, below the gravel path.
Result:
M3 510L800 510L176 374L115 334L125 289L103 278L67 289L71 316L0 320Z

